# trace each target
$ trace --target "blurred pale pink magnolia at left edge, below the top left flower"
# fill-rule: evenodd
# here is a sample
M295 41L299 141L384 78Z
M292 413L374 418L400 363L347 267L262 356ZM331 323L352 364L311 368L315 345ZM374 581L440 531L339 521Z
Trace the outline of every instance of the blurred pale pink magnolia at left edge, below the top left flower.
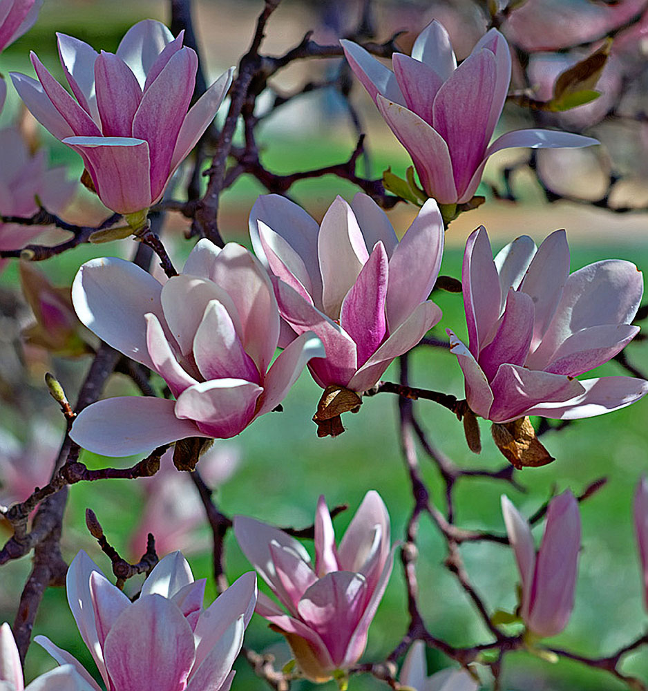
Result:
M0 129L0 151L3 160L10 161L10 165L0 166L0 216L32 216L39 209L37 196L48 211L64 211L77 182L67 180L62 167L49 168L44 149L32 155L19 131L6 127ZM42 232L42 226L0 222L0 249L24 247ZM0 259L0 270L7 261Z

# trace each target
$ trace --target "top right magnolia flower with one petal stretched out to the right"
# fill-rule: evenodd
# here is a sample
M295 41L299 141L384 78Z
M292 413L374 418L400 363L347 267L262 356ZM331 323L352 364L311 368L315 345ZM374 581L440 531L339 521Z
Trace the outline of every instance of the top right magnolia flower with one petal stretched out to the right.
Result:
M341 44L352 70L410 153L423 189L440 204L468 202L496 151L598 144L580 135L528 129L507 132L489 146L511 82L511 53L495 29L459 67L438 21L419 34L411 57L394 53L393 72L352 41Z

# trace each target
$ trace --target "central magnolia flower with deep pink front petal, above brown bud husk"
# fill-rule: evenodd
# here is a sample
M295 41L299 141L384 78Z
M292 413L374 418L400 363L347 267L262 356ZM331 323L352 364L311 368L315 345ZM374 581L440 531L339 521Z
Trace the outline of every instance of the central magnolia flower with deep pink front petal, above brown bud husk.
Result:
M399 242L367 195L332 203L321 225L278 195L250 214L257 256L274 274L281 316L294 334L314 331L326 359L309 363L315 381L364 391L439 319L428 301L444 249L444 225L428 200Z

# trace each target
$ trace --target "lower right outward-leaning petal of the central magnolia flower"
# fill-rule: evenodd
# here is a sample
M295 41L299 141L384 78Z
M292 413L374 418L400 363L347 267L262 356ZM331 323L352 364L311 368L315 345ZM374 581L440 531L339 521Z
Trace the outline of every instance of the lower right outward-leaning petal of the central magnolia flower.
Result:
M441 320L441 310L432 301L418 305L412 314L372 354L348 384L354 391L366 391L382 377L390 362L414 348L423 336Z

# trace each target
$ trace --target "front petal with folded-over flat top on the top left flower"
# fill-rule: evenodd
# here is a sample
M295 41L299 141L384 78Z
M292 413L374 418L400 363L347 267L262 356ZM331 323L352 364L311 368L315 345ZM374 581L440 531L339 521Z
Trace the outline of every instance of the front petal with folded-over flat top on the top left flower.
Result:
M104 205L117 214L134 214L151 206L149 144L126 137L68 137L79 153Z

